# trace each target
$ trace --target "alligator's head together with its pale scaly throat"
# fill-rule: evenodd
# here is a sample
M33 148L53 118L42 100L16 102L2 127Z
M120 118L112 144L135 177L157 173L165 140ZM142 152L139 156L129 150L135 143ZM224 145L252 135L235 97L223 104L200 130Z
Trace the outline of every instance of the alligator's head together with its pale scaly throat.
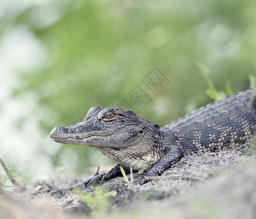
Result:
M102 153L132 169L147 168L159 159L159 126L135 112L91 107L80 123L56 126L50 137L62 144L97 147Z

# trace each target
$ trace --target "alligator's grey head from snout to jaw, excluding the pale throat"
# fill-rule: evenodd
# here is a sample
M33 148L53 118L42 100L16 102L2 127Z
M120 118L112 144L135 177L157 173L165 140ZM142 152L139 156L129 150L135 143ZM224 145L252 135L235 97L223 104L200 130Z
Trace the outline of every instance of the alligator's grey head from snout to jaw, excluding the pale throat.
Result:
M80 123L56 126L50 137L59 143L94 147L137 145L151 129L149 120L130 110L91 107Z

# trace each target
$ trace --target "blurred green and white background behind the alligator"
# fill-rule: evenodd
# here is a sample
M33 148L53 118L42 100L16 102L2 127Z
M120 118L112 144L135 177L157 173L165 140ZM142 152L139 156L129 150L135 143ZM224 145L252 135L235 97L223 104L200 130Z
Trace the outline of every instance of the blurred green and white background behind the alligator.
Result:
M227 94L253 86L253 0L3 1L0 7L0 112L9 124L1 127L0 152L25 177L113 163L86 146L60 147L48 133L78 123L93 106L130 108L124 97L136 85L152 99L140 115L159 126L213 101L212 85ZM157 95L142 82L154 67L170 80Z

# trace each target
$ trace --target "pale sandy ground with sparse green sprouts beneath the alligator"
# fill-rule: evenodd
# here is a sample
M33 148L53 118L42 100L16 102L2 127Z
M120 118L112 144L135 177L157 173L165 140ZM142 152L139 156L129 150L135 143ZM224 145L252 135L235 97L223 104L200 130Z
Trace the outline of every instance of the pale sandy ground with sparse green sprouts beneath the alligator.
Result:
M248 145L187 156L145 185L129 174L130 185L115 178L81 187L89 174L24 184L0 196L0 218L254 218L256 155Z

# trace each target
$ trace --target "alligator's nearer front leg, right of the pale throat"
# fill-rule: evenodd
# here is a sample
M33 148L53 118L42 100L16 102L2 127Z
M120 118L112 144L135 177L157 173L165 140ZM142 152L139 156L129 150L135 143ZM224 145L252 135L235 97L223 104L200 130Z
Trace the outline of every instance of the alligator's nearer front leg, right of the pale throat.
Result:
M184 150L176 145L170 145L167 149L167 153L154 163L137 182L140 185L148 183L148 177L154 177L162 174L168 167L172 166L176 162L180 161L184 157Z

